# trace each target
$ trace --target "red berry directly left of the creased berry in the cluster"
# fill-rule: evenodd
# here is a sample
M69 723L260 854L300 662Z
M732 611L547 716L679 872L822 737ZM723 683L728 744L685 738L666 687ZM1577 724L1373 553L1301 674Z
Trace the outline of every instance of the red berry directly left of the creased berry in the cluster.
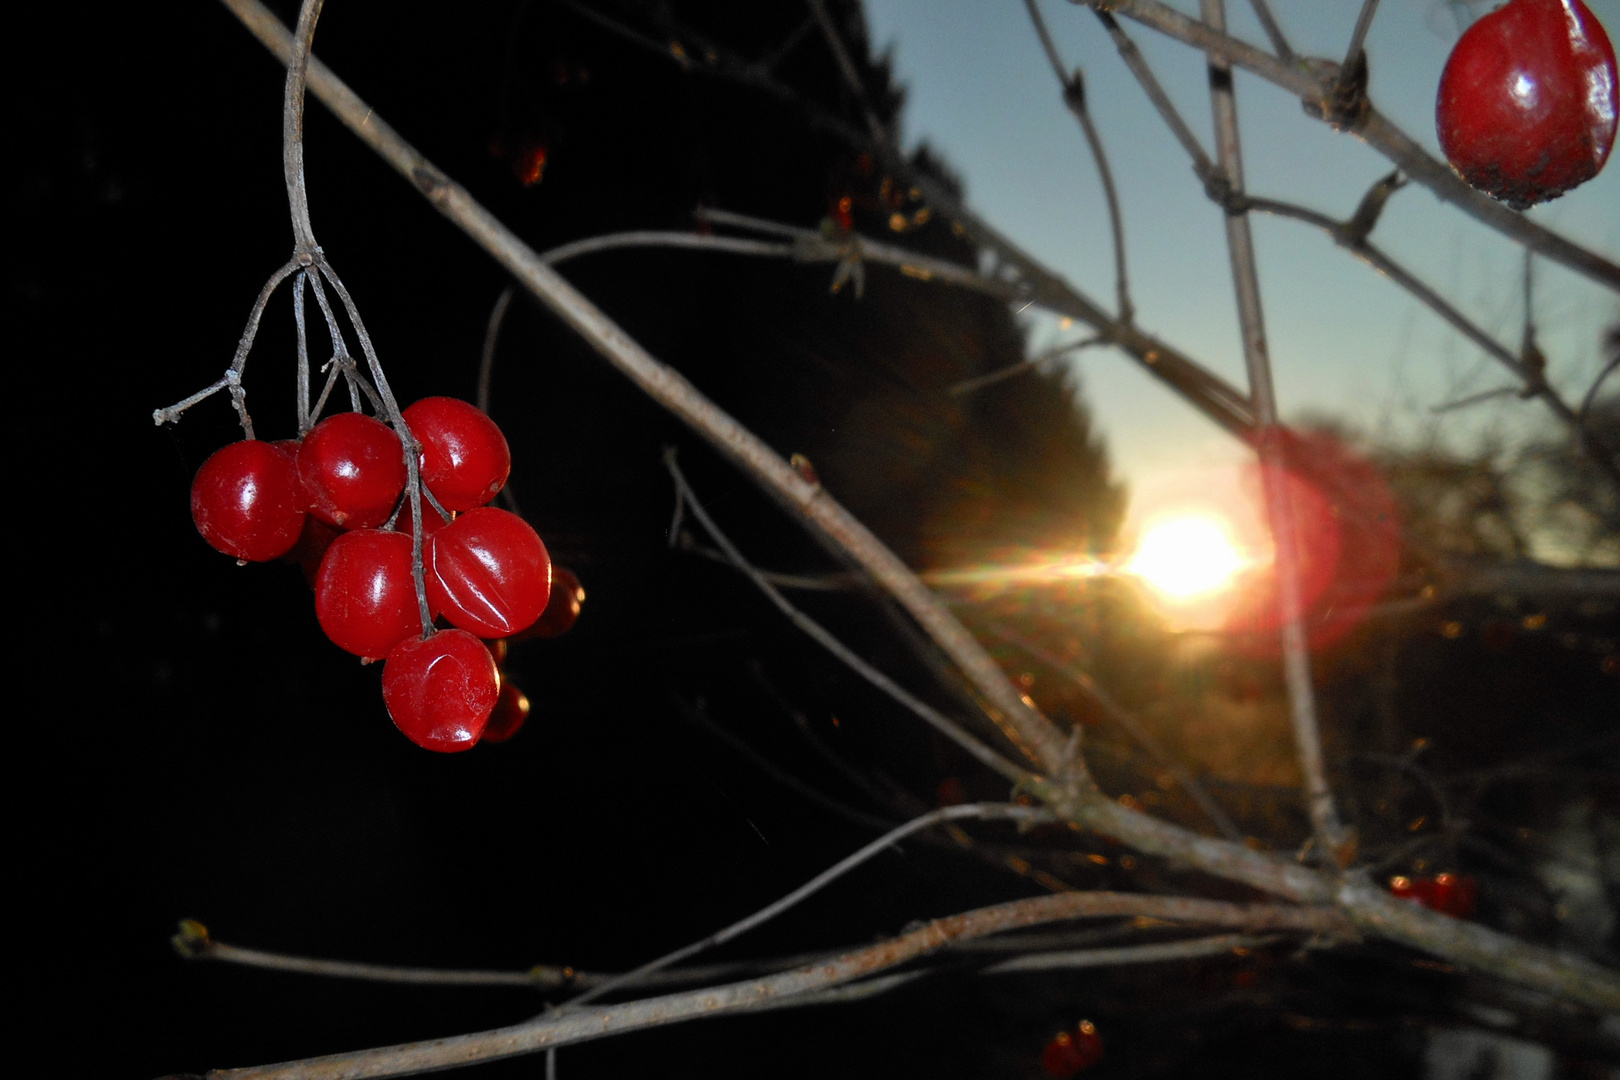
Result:
M326 636L355 656L382 657L421 635L410 536L355 529L334 539L316 575L314 615Z

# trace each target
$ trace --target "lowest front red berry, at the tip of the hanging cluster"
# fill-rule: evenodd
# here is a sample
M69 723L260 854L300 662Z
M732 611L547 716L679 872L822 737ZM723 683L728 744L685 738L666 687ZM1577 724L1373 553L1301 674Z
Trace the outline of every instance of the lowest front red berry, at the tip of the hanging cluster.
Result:
M470 750L499 696L489 649L465 630L405 638L382 667L382 703L394 725L424 750Z

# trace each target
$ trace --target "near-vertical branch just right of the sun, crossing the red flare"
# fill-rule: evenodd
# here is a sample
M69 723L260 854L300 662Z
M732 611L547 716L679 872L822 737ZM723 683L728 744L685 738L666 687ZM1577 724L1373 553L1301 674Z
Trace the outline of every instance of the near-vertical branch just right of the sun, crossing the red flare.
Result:
M1225 29L1223 0L1200 0L1204 21ZM1233 94L1231 68L1212 55L1210 104L1215 112L1215 147L1220 170L1233 196L1243 196L1243 149L1238 138L1238 104ZM1317 725L1315 690L1311 685L1311 653L1304 627L1304 602L1299 591L1299 549L1294 529L1294 507L1285 481L1285 461L1277 437L1277 392L1272 387L1272 361L1265 343L1265 316L1260 311L1260 279L1256 270L1254 238L1247 214L1226 214L1226 246L1231 253L1233 285L1238 295L1238 325L1243 355L1249 369L1249 398L1259 424L1260 487L1277 563L1277 597L1281 614L1283 680L1288 685L1290 719L1294 729L1294 751L1306 785L1306 808L1322 857L1328 865L1345 865L1351 852L1349 836L1338 821L1333 792L1322 767L1322 735Z

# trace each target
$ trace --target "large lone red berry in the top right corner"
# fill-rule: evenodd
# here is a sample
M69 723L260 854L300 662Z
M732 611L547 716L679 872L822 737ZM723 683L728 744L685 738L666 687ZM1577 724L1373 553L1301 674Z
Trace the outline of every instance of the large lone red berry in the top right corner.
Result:
M1440 149L1518 210L1596 176L1615 120L1615 50L1581 0L1508 0L1468 28L1440 74Z

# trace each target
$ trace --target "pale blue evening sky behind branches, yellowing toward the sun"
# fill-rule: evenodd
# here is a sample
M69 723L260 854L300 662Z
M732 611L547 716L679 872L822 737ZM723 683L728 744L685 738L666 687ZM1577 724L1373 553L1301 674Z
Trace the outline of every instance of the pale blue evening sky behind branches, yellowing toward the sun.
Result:
M1197 15L1197 0L1173 6ZM1614 39L1620 0L1589 0ZM1102 26L1068 0L1040 0L1068 66L1085 73L1087 100L1119 188L1137 322L1230 382L1246 387L1220 212L1204 198L1181 146L1158 120ZM1296 52L1343 58L1353 0L1273 0ZM1473 15L1489 5L1473 5ZM893 50L907 87L902 139L943 151L969 204L1014 243L1113 309L1113 249L1097 168L1021 0L867 0L872 39ZM1396 126L1440 155L1434 97L1466 8L1443 0L1383 0L1367 37L1371 97ZM1231 32L1265 45L1247 3L1228 2ZM1121 19L1176 102L1213 147L1199 53ZM1288 92L1238 73L1247 188L1335 219L1392 168L1354 138L1306 117ZM1620 259L1620 167L1537 206L1549 228ZM1516 397L1448 411L1432 406L1508 385L1510 376L1437 316L1332 240L1298 222L1254 219L1270 353L1285 418L1328 415L1383 437L1414 440L1439 424L1466 445L1482 432L1523 437L1547 411ZM1523 325L1521 253L1416 185L1385 209L1372 241L1516 348ZM1620 298L1536 261L1536 322L1549 377L1580 398L1599 368L1604 327ZM1084 337L1027 313L1032 340ZM1183 405L1123 353L1074 361L1116 474L1132 492L1132 521L1187 502L1221 504L1238 491L1247 452ZM1610 387L1620 389L1620 387Z

